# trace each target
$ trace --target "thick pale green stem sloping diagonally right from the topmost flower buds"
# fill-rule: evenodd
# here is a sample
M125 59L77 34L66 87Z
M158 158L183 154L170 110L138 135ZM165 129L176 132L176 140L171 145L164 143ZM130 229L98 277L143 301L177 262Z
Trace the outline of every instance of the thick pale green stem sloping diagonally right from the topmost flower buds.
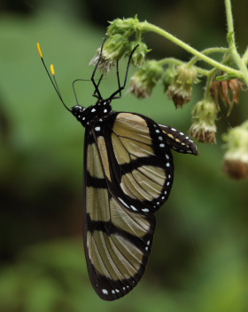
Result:
M228 1L228 0L226 0L226 1ZM195 56L197 56L198 59L204 60L206 63L212 65L213 67L219 68L225 72L233 74L234 76L237 76L240 78L243 77L243 74L239 70L236 70L234 68L229 68L228 66L225 66L225 65L221 64L220 62L209 58L205 54L198 52L198 50L192 48L189 44L185 44L182 40L176 38L175 36L168 33L166 30L159 28L158 26L152 25L152 24L148 23L147 21L143 21L143 22L139 23L139 28L142 31L153 31L160 36L166 37L168 40L172 41L174 44L181 46L182 49L190 52L191 54L193 54ZM248 80L247 80L247 83L248 83Z

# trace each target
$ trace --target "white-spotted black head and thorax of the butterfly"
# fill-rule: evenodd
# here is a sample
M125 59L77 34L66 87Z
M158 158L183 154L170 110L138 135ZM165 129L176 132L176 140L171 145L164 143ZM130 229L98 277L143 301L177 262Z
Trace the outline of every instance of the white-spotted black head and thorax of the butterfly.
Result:
M110 103L111 100L107 99L97 100L97 103L89 106L89 108L83 108L81 105L76 105L72 108L72 114L85 127L86 125L109 115L112 112Z

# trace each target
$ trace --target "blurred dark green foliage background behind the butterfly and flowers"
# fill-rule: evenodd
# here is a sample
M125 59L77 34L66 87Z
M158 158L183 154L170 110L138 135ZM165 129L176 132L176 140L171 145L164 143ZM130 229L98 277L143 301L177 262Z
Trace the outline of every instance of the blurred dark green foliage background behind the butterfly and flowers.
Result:
M72 81L90 78L89 60L102 44L108 20L138 14L201 50L226 45L223 3L0 1L1 312L248 311L248 182L229 180L221 171L221 133L247 119L247 93L229 124L218 121L217 146L198 144L197 157L174 154L174 188L157 213L146 272L128 296L105 302L91 288L82 247L84 129L63 108L36 51L40 42L71 107ZM233 1L233 6L242 51L247 1ZM162 37L147 34L145 40L152 48L150 58L189 60L188 53ZM182 110L175 110L161 86L149 100L124 92L113 109L187 132L203 86L196 86ZM101 90L105 97L116 90L114 75ZM92 92L90 82L77 84L83 105L94 103Z

